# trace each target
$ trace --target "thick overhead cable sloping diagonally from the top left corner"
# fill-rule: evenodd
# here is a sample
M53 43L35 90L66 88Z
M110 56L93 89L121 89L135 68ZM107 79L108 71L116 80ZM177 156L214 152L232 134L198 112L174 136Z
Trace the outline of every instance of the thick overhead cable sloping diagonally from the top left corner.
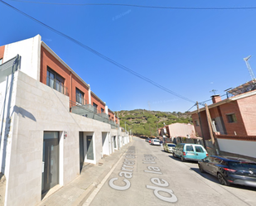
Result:
M121 65L121 64L119 64L118 62L116 62L116 61L110 59L108 56L99 53L99 51L94 50L94 49L90 48L89 46L86 46L85 44L81 43L80 41L77 41L77 40L75 40L74 38L65 35L65 34L62 33L61 31L57 31L56 29L52 28L51 26L46 25L46 24L43 23L43 22L40 22L40 21L37 20L36 18L31 17L30 15L28 15L28 14L25 13L25 12L22 12L21 10L17 9L16 7L12 7L12 5L8 4L7 2L3 2L2 0L0 0L0 2L6 4L7 7L11 7L11 8L14 9L15 11L20 12L22 15L31 18L31 20L33 20L33 21L35 21L35 22L37 22L37 23L40 23L42 26L45 26L46 28L50 29L51 31L56 32L56 34L58 34L58 35L60 35L60 36L63 36L63 37L65 37L66 39L68 39L68 40L74 42L75 44L77 44L77 45L83 47L85 50L89 50L90 52L94 53L94 55L98 55L100 58L109 61L109 62L110 62L111 64L113 64L113 65L118 66L118 68L123 69L123 70L126 70L128 73L133 74L133 75L137 76L138 78L147 81L148 83L150 83L150 84L156 86L156 87L159 88L159 89L162 89L162 90L166 91L167 93L171 93L172 95L175 95L175 96L178 97L178 98L182 98L182 99L184 99L184 100L186 100L186 101L189 101L189 102L191 102L191 103L195 103L195 101L193 101L193 100L191 100L191 99L189 99L189 98L183 97L181 94L175 93L175 92L171 91L170 89L165 88L165 87L162 86L161 84L158 84L158 83L152 81L152 79L148 79L147 77L143 76L142 74L138 74L137 72L133 71L132 69L128 69L128 67L126 67L126 66L124 66L124 65Z

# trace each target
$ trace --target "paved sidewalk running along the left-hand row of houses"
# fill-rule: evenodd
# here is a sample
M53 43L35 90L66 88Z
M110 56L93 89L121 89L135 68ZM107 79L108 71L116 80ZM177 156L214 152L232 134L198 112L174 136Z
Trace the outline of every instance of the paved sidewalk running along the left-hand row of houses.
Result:
M114 151L110 156L105 156L99 160L97 165L87 164L79 177L58 189L41 201L38 206L77 206L82 205L89 195L94 191L97 185L104 179L109 171L118 162L123 153L127 151L128 146L123 146L119 151Z

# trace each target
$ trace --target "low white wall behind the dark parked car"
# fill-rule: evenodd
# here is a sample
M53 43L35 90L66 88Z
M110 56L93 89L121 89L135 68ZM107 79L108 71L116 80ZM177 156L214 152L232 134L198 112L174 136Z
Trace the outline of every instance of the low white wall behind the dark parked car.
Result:
M256 158L256 141L239 141L218 138L220 151Z

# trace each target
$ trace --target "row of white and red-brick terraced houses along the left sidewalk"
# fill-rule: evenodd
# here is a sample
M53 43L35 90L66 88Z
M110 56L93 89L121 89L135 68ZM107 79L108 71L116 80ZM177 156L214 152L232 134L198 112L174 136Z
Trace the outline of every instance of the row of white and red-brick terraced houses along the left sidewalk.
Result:
M51 71L59 79L47 80L48 75L44 79L42 50L51 53L59 65L56 69L51 66L47 74ZM0 47L0 59L4 205L39 204L50 189L80 175L85 162L96 164L129 142L128 133L111 120L109 108L96 95L90 95L90 89L84 96L74 93L89 88L88 84L41 41L41 36ZM74 78L72 84L67 78L58 81L62 67ZM73 94L65 93L65 88Z

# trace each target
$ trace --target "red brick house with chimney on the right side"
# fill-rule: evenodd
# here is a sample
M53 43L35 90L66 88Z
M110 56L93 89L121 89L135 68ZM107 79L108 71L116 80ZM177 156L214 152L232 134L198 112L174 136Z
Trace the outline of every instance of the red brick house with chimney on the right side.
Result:
M220 95L212 96L213 103L208 108L211 119L210 123L215 137L256 136L256 90L254 88L254 83L251 81L229 90L228 94L234 95L232 97L221 100ZM193 111L191 117L197 135L199 137L204 136L205 140L210 139L205 108L200 108L201 122L199 121L197 111Z

